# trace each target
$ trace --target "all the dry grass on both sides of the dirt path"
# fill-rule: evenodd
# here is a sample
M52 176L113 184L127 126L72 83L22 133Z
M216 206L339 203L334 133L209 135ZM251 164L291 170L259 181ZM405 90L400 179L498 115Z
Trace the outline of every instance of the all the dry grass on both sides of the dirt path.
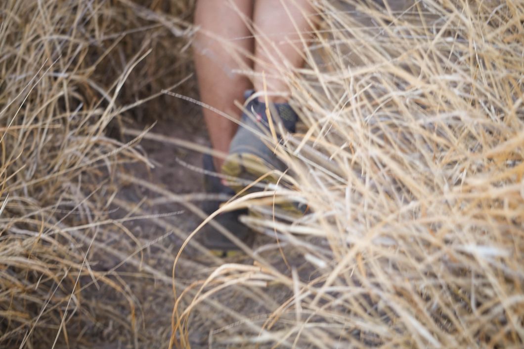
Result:
M522 345L524 2L316 3L323 24L297 42L308 65L281 74L305 124L277 148L291 171L230 206L260 213L244 218L262 233L254 263L192 239L218 266L184 247L174 280L154 263L171 251L148 249L187 232L116 193L203 213L126 173L148 160L107 132L176 108L144 103L188 76L192 2L2 3L0 346L166 347L171 330L181 347ZM280 197L309 210L272 215ZM130 219L166 234L140 240ZM137 285L169 308L174 286L172 328L144 324L170 314Z

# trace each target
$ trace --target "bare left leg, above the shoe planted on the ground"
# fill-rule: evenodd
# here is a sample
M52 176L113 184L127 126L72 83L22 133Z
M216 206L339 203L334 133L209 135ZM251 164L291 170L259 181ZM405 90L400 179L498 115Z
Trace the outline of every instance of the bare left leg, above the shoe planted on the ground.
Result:
M250 67L253 39L248 38L251 33L242 16L250 19L252 13L252 0L198 0L195 12L195 24L201 28L194 44L200 98L237 119L241 111L234 102L242 103L244 91L252 85L233 70ZM227 153L237 125L206 108L203 114L213 148ZM215 157L217 171L222 162Z

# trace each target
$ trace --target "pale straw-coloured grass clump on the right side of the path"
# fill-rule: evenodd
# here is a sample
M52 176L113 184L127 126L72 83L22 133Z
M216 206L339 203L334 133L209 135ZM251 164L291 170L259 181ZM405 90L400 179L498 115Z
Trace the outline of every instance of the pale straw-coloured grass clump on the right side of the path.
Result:
M307 131L277 148L281 183L251 195L309 211L239 199L274 242L195 285L174 342L202 300L242 284L269 300L216 343L523 345L524 2L317 3L323 25L297 46L318 54L281 72Z

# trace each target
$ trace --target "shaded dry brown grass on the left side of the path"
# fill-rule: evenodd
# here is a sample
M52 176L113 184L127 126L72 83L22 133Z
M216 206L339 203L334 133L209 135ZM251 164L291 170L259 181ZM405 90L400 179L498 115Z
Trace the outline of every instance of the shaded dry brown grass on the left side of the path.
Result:
M118 331L105 333L110 340L137 342L131 290L113 269L90 263L106 255L138 265L137 256L106 244L108 236L121 239L122 249L143 248L110 213L115 173L127 162L147 161L134 141L118 142L107 130L140 98L188 73L183 20L190 20L192 3L164 3L156 13L158 3L0 5L2 347L90 346L111 323ZM178 47L179 57L167 47ZM155 105L160 110L162 100ZM115 298L91 297L100 288Z

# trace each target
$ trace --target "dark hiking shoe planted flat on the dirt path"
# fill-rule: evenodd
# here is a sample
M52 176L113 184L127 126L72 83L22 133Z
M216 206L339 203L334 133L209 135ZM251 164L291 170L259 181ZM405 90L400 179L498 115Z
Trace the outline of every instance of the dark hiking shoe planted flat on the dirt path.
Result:
M203 211L207 215L211 215L220 208L220 205L235 195L235 192L230 187L222 184L219 177L214 176L216 173L213 164L213 157L204 154L204 189L208 194L216 194L219 198L204 201ZM255 232L250 230L242 224L238 218L242 215L247 215L247 209L222 212L217 215L213 221L221 224L224 228L230 231L235 237L244 242L248 246L253 246L255 240ZM208 223L202 228L203 245L208 247L217 255L229 256L232 251L240 251L240 248L227 239L219 230L215 229L212 224Z

